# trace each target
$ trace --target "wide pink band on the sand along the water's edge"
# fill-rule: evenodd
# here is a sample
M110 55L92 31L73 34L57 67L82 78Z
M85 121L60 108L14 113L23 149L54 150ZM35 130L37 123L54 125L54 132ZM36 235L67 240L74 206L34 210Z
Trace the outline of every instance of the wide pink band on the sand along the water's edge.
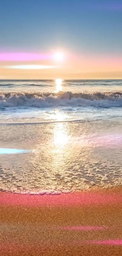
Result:
M16 194L1 192L0 205L10 206L75 206L75 205L110 205L122 204L122 192L113 192L110 190L104 191L89 191L77 193L62 193L55 195L30 195L30 194Z

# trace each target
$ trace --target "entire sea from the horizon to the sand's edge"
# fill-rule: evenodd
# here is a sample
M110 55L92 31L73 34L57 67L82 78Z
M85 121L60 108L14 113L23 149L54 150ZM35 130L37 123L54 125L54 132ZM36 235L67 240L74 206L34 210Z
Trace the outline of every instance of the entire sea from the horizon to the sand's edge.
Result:
M0 80L0 190L122 185L122 80Z

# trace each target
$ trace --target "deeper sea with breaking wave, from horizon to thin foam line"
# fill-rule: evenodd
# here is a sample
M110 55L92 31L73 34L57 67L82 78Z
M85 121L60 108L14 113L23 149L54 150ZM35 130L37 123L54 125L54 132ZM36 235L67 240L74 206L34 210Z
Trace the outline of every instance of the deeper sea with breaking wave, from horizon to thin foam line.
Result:
M0 123L96 120L121 116L122 80L1 80Z

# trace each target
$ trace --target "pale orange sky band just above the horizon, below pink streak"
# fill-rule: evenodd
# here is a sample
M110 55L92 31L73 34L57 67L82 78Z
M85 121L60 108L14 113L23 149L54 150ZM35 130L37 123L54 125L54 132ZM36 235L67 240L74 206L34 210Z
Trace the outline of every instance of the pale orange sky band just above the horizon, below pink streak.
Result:
M122 79L122 56L91 56L70 53L65 54L61 61L54 59L0 61L0 79L56 78Z

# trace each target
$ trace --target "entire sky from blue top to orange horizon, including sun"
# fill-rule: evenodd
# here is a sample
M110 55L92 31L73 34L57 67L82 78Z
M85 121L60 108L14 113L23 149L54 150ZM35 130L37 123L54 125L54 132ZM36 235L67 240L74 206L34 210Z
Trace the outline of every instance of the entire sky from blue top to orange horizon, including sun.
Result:
M121 27L121 1L0 1L0 79L122 78Z

